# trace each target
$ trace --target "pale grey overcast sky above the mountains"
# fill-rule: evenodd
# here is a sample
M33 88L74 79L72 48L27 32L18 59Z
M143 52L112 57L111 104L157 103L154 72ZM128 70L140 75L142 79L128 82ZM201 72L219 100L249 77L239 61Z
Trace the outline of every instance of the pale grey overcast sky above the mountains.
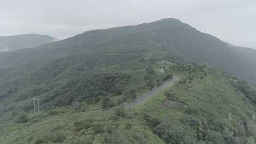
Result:
M64 39L162 18L256 48L256 0L0 0L0 36L36 33Z

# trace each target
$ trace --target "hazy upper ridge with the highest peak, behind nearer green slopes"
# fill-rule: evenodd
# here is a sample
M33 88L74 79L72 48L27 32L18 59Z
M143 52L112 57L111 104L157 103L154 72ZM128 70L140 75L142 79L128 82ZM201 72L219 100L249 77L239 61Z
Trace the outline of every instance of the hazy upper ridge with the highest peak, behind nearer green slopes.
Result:
M0 55L0 67L15 66L35 60L46 62L86 50L107 51L106 46L117 43L122 45L121 43L125 41L134 42L136 48L150 45L162 51L171 51L190 62L223 68L239 79L256 86L256 50L230 45L174 18L137 26L91 30L63 41L6 53Z

